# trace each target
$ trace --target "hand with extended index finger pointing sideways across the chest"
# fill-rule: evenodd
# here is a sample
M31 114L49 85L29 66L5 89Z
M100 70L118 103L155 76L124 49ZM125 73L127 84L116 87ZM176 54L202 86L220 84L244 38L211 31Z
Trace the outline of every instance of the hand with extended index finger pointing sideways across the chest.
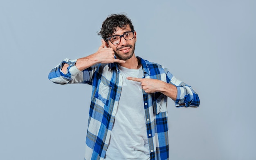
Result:
M159 89L165 82L156 79L149 79L149 78L133 78L127 77L128 80L133 80L136 82L141 82L141 89L143 89L146 93L155 93L159 92ZM166 83L167 84L167 83Z

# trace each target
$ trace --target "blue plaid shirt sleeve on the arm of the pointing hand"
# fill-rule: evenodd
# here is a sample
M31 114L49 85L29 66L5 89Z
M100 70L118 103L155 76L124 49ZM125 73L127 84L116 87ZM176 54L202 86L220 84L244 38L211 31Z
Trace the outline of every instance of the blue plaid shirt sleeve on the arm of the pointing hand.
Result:
M173 84L177 87L177 98L175 100L176 107L198 107L200 100L198 94L193 90L191 86L178 80L173 76L168 69L164 68L166 73L167 83Z

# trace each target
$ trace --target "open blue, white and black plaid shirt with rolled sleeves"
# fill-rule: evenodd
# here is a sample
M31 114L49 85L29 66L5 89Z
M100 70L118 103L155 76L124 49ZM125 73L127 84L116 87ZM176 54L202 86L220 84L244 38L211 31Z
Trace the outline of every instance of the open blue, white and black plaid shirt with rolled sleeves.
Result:
M199 106L198 95L190 86L175 78L161 65L139 59L143 78L158 79L177 86L176 107ZM61 72L64 63L69 64L67 74ZM85 83L92 86L85 160L103 160L117 113L123 79L117 63L95 64L83 71L79 71L75 63L76 60L63 60L49 73L49 79L58 84ZM148 94L143 91L143 100L150 159L166 160L169 157L167 96L159 92Z

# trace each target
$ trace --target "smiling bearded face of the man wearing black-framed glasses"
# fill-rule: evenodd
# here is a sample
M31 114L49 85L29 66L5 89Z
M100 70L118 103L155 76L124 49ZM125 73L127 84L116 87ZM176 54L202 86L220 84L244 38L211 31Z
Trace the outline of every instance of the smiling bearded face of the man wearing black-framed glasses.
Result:
M130 26L127 25L125 29L121 29L120 27L117 27L116 32L113 34L113 36L116 35L123 35L124 33L131 31ZM125 40L124 37L121 38L120 43L118 44L112 44L108 40L108 47L111 47L113 51L115 52L115 55L120 60L128 60L132 58L134 55L135 50L135 42L136 42L136 32L134 33L134 38L131 40Z

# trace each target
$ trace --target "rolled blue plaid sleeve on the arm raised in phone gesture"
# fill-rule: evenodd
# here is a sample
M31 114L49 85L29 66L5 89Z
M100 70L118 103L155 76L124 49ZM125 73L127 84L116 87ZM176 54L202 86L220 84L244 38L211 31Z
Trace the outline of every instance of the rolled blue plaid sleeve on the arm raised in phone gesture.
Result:
M77 59L76 59L77 60ZM52 71L50 71L48 78L57 84L71 84L71 83L87 83L92 84L92 75L96 66L89 67L80 71L76 67L76 60L64 59ZM64 64L68 64L67 73L61 71ZM93 68L93 69L92 69Z

